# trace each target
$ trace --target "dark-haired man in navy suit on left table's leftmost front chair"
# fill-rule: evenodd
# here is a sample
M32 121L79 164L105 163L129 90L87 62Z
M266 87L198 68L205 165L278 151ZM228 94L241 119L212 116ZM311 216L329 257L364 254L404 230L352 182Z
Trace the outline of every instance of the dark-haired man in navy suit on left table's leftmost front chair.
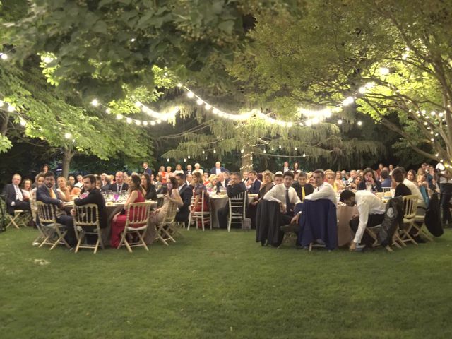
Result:
M53 172L47 172L44 174L44 184L39 186L36 190L36 200L42 201L43 203L48 203L59 208L56 210L57 222L64 225L64 228L68 231L66 233L66 242L69 246L75 246L77 243L76 232L73 229L72 217L66 215L62 208L64 203L62 200L58 199L57 191L54 189L55 186L55 174Z

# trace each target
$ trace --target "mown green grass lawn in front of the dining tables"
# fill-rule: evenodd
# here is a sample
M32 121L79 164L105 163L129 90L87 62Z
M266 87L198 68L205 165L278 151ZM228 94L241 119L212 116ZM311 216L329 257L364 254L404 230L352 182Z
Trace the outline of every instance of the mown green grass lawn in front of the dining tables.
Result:
M392 254L182 233L169 247L96 255L33 247L32 229L1 233L0 338L452 336L451 230Z

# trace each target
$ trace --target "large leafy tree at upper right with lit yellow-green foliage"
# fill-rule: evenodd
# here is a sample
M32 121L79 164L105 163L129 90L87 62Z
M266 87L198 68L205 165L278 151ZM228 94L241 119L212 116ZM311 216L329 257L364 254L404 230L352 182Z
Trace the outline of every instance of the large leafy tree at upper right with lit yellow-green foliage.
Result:
M299 102L369 114L423 157L452 157L451 37L447 1L307 1L261 11L232 74L254 102ZM398 121L388 119L398 115Z

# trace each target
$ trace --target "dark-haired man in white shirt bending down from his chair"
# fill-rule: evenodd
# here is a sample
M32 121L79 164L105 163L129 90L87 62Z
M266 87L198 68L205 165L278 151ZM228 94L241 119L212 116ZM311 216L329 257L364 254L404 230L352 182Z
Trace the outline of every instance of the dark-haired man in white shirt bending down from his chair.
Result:
M356 193L347 190L342 191L340 201L347 206L357 205L359 216L350 220L350 228L355 232L355 238L353 238L352 244L350 244L350 251L362 249L364 246L359 245L359 243L362 240L366 227L381 225L383 222L385 213L384 203L367 190L357 191ZM371 238L366 241L367 244L371 244L372 242Z

